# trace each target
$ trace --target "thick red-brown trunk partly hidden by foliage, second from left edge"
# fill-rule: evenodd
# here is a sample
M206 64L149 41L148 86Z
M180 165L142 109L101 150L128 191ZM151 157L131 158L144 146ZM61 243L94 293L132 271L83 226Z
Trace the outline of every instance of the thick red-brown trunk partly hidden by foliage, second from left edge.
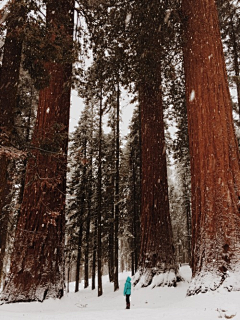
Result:
M73 0L47 1L51 41L62 45L64 41L70 50L73 8ZM40 91L9 279L1 296L7 302L63 295L71 63L56 60L48 62L46 69L50 82Z

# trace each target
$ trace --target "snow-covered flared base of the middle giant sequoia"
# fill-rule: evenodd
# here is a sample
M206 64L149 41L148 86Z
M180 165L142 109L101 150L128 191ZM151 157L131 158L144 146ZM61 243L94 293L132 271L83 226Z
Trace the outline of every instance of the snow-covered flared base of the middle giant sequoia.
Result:
M138 287L176 287L177 282L182 281L182 277L171 269L168 271L161 271L157 268L149 268L145 270L138 270L132 279L134 286Z

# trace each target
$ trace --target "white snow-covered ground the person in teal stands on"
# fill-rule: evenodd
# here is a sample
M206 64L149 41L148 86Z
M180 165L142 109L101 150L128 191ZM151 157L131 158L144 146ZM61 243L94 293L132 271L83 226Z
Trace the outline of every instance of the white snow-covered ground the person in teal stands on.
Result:
M181 267L185 281L177 288L132 289L131 309L125 309L123 286L129 273L119 275L120 290L113 292L113 284L103 277L104 294L83 289L70 292L61 300L43 303L15 303L0 306L0 320L214 320L240 319L240 292L223 289L186 297L191 278L188 266ZM74 284L71 284L71 291Z

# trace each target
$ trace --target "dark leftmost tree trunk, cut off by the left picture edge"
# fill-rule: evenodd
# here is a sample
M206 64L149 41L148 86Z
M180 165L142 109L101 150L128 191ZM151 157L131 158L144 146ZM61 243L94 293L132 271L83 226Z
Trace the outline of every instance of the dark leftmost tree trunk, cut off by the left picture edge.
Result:
M14 145L14 109L17 102L19 71L26 6L15 1L9 7L7 34L0 73L0 285L7 246L9 204L11 202L11 166L19 157Z

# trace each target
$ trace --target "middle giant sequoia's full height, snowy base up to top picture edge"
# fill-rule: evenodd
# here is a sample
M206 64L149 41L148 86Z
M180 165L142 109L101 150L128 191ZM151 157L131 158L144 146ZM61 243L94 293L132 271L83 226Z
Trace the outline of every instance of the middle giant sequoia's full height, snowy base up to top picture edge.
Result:
M134 28L141 27L140 32L136 29L135 32L139 32L136 51L139 57L142 176L141 249L135 279L138 281L140 276L142 286L152 281L154 285L175 285L178 270L169 212L161 90L166 7L163 2L159 5L159 1L141 1L136 6L138 16Z

